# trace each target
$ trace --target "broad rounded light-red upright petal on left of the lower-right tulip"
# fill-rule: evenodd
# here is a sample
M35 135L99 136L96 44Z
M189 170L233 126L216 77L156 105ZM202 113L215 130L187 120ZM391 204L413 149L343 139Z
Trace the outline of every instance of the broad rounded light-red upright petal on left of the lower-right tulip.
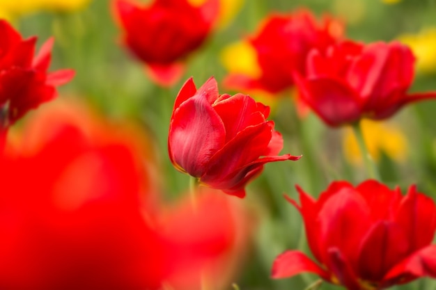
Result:
M336 191L320 209L319 243L324 252L322 257L328 257L329 248L338 248L350 264L357 264L356 250L361 239L371 227L371 211L364 198L354 188L342 188ZM330 261L325 258L327 267Z

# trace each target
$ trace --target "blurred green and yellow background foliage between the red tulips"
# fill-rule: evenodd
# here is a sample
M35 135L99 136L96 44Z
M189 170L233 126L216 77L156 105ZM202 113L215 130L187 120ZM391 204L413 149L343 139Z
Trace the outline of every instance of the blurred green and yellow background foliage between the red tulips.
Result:
M111 1L53 0L33 7L35 2L0 0L0 17L9 19L26 37L38 35L38 45L54 36L52 69L70 67L76 71L75 79L59 89L59 99L54 102L74 99L111 122L129 120L141 128L134 134L146 136L151 143L148 151L157 163L154 174L164 200L176 199L188 188L187 176L171 166L166 149L169 116L178 90L189 76L197 86L210 76L221 85L231 66L244 58L243 51L238 56L231 54L229 47L256 33L270 13L307 8L318 17L328 14L341 19L347 37L353 40L399 40L410 45L418 58L411 91L436 90L435 0L222 0L228 9L225 19L201 49L187 58L187 71L171 88L157 86L143 64L123 47ZM147 33L146 28L143 33ZM242 65L250 70L249 61ZM228 91L220 87L220 92ZM270 119L283 134L282 152L304 156L297 162L267 164L263 174L249 184L247 198L237 201L251 212L253 228L233 278L241 290L304 289L318 279L314 275L270 279L272 261L279 253L291 248L309 253L302 219L283 194L297 198L295 184L299 184L318 196L335 179L357 184L366 178L350 128L330 129L313 113L302 122L303 117L295 113L293 95L293 91L274 97L251 94L272 107ZM45 106L50 105L41 108ZM419 191L436 197L435 111L435 101L423 102L404 108L386 122L364 124L370 150L389 187L398 185L405 192L410 184L417 184ZM19 129L32 114L15 127ZM435 287L436 282L423 279L397 288Z

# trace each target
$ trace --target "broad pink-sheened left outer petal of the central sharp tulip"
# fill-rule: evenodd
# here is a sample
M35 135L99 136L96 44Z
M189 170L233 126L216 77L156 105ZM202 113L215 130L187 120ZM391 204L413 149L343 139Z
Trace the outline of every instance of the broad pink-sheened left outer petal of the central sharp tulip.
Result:
M211 157L224 145L226 131L207 99L196 96L174 112L169 129L171 162L179 170L200 177Z

